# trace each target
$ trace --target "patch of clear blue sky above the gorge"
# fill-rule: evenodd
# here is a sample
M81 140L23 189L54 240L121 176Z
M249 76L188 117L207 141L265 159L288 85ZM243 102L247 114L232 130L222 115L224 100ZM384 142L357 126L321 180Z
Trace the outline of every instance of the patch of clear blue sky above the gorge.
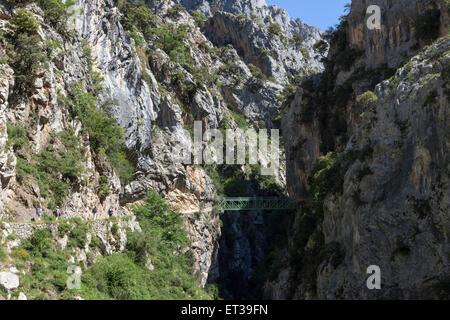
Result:
M275 4L286 9L292 18L300 18L303 22L325 31L338 24L344 13L344 5L350 0L266 0L267 4Z

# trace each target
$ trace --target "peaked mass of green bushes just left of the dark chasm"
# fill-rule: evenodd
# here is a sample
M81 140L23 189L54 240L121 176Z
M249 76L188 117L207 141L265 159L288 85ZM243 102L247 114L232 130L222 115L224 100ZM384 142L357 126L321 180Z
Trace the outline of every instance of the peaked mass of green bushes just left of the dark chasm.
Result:
M142 232L130 232L128 251L101 258L83 275L88 299L208 299L192 273L181 215L154 191L134 212ZM148 258L154 270L145 266Z

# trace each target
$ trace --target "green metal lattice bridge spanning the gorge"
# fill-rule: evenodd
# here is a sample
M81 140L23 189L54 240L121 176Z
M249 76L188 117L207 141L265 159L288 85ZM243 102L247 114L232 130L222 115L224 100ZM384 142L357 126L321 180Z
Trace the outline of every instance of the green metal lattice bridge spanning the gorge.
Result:
M295 210L299 208L299 205L294 199L288 197L219 198L217 207L224 211L278 211Z

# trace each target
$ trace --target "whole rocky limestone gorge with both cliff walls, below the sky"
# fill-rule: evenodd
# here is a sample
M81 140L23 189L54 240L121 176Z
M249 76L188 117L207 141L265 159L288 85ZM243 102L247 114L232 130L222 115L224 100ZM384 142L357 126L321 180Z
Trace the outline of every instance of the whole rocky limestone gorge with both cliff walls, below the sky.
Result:
M348 9L322 32L264 0L0 1L0 296L448 298L450 4ZM194 121L280 129L279 174L175 163ZM286 195L301 209L214 208ZM26 276L51 259L88 289ZM137 289L107 291L108 265Z

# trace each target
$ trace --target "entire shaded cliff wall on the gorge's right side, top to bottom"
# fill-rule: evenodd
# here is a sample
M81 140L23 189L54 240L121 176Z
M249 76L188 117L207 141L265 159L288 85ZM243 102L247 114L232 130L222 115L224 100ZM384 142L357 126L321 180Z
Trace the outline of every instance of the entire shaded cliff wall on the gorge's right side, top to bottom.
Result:
M353 1L343 29L363 55L342 70L333 60L338 53L332 43L328 69L304 83L283 109L287 185L303 202L289 229L292 242L287 250L302 252L301 259L310 265L291 262L289 279L296 282L288 286L286 270L280 269L277 280L266 283L268 297L446 298L440 288L450 277L447 11L441 13L445 36L423 47L407 17L422 14L429 1L371 2L386 8L382 33L363 27L367 3ZM371 87L368 74L384 63L398 69ZM358 68L366 68L366 75L358 75ZM327 77L328 93L320 93ZM336 93L352 77L358 81L340 97L344 103L328 100L330 105L321 110L308 109L314 99L330 97L329 92ZM361 98L364 90L373 90L365 95L370 101ZM345 130L331 137L321 121L327 121L324 115L335 117L337 110L341 119L327 123ZM335 130L331 125L328 129ZM328 186L311 185L320 174L314 169L319 157L330 159L332 154L337 162L329 168L336 171L328 177ZM311 212L319 217L306 227ZM295 242L296 235L305 233L305 241ZM317 252L322 256L315 259ZM381 290L366 286L370 265L381 269Z

